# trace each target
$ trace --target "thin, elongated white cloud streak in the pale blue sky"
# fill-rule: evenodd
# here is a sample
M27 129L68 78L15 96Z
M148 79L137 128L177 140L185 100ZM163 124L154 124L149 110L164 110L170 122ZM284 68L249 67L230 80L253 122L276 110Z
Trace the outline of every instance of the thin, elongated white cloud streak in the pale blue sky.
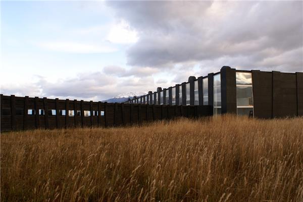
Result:
M38 43L38 46L51 51L70 53L108 53L116 49L106 45L95 45L78 42L53 41Z

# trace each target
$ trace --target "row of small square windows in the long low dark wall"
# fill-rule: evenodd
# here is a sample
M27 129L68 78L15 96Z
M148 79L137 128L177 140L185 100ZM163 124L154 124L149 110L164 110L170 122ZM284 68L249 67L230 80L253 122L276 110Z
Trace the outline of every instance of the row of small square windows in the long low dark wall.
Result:
M24 113L24 109L16 109L16 115L23 115ZM91 116L90 111L88 110L84 110L83 111L84 116ZM35 115L36 114L36 110L35 109L28 109L27 110L27 115ZM44 109L39 109L38 110L38 114L43 116L45 115L45 110ZM56 116L56 109L48 109L47 110L47 114L49 116ZM68 110L68 116L75 116L75 114L77 114L77 116L81 116L81 110ZM92 116L98 116L99 111L92 111ZM2 109L2 115L11 115L11 109ZM60 109L59 110L59 115L60 116L66 116L66 110L65 109ZM104 116L104 111L100 111L100 116Z

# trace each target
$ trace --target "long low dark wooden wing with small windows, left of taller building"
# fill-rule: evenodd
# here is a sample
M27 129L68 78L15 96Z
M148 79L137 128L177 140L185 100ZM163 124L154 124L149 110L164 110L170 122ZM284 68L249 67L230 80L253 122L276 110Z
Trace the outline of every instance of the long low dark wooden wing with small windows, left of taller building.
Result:
M1 131L35 128L108 127L176 116L212 115L212 107L124 104L1 94Z

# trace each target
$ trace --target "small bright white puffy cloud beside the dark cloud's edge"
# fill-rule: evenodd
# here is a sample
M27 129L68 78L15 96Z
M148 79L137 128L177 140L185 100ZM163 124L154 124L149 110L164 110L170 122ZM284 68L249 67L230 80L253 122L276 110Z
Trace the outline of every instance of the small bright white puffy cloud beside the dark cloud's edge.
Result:
M137 32L122 20L110 28L107 40L112 43L130 44L138 41Z

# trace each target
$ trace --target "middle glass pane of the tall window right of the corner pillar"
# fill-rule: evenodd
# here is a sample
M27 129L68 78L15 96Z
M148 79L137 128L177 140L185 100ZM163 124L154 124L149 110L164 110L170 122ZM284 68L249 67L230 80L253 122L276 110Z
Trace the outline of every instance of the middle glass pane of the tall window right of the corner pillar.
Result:
M237 106L253 106L252 86L237 85Z

